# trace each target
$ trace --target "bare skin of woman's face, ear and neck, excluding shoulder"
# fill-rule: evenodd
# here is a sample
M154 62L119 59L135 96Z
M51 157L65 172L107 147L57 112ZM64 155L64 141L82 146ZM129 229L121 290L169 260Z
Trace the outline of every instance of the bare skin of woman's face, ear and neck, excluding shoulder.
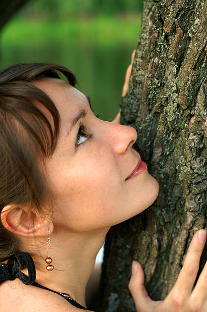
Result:
M140 161L132 148L137 137L135 129L98 119L87 98L63 81L46 79L36 85L53 99L62 122L57 147L45 163L55 198L52 220L39 216L35 209L31 212L27 206L8 205L3 209L2 222L19 236L22 250L40 256L37 260L34 257L37 282L69 293L85 306L85 287L108 229L151 205L157 197L158 184L147 170L136 179L127 180ZM88 134L79 135L76 146L79 123L67 133L71 117L83 109L86 116L81 122ZM89 133L94 139L88 139ZM55 267L52 272L45 270L44 262L48 230Z

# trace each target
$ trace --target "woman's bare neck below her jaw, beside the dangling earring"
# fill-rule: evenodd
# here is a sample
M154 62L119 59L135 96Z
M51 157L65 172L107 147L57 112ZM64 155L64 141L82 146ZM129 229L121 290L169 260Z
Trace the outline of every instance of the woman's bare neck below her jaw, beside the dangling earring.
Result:
M48 245L49 257L52 258L53 271L46 270L46 243L37 246L33 251L37 278L36 282L54 291L67 293L81 305L85 306L85 288L94 268L98 251L104 243L107 229L94 232L53 231ZM28 246L28 245L27 245ZM38 248L37 248L38 247Z

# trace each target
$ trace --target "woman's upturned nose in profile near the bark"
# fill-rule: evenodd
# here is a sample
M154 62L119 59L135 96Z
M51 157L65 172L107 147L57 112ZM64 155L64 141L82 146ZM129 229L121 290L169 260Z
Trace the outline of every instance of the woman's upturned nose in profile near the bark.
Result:
M137 132L133 127L110 122L110 142L117 154L124 154L136 142Z

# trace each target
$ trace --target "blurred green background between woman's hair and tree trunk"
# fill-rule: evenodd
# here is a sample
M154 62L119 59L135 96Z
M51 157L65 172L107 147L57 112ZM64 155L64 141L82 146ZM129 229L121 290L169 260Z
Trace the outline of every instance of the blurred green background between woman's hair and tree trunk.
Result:
M77 76L95 113L119 111L125 72L137 44L142 0L33 0L1 33L1 69L52 62Z

